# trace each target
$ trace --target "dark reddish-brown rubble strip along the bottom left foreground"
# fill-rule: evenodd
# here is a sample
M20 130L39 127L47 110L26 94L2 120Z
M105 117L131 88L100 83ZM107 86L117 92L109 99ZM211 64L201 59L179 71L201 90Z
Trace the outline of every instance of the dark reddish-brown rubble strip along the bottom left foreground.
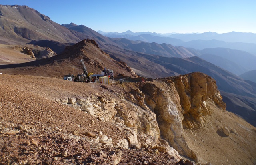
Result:
M3 123L2 123L3 124ZM7 123L8 125L8 123ZM7 126L6 125L6 126ZM157 149L124 149L58 128L34 129L40 123L9 124L1 131L1 164L174 164ZM22 127L22 130L20 130ZM122 158L122 159L121 159Z

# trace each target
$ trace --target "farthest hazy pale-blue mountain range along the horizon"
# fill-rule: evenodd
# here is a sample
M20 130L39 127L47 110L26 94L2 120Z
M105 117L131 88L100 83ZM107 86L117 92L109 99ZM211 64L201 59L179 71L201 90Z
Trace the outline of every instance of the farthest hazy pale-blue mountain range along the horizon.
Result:
M205 49L205 48L230 48L249 52L256 55L256 34L230 32L218 34L215 32L206 32L202 34L171 34L163 36L162 34L151 32L133 33L131 31L123 33L105 33L104 36L111 38L126 38L129 40L140 40L144 42L156 42L158 44L166 43L173 46L184 46L186 48Z

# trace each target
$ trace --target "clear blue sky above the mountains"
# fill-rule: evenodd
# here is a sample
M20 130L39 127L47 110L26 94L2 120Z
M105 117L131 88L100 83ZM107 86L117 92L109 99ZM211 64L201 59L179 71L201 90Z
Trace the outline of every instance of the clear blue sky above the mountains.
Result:
M256 0L0 0L104 32L252 32Z

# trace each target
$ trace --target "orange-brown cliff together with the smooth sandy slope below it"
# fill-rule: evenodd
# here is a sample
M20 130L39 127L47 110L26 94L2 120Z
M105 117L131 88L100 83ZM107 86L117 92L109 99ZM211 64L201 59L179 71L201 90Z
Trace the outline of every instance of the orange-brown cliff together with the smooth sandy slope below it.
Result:
M194 72L138 88L145 95L143 107L156 114L160 135L180 154L198 163L255 163L255 127L225 110L210 76ZM243 129L247 136L236 133Z

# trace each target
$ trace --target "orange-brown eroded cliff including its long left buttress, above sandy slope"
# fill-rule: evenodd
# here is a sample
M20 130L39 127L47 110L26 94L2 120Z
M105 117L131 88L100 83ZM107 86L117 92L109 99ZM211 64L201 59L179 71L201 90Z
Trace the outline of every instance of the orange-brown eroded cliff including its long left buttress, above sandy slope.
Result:
M180 154L197 160L184 129L204 127L204 117L211 114L212 106L225 109L215 80L194 72L142 83L139 88L145 95L143 107L156 114L161 136Z

